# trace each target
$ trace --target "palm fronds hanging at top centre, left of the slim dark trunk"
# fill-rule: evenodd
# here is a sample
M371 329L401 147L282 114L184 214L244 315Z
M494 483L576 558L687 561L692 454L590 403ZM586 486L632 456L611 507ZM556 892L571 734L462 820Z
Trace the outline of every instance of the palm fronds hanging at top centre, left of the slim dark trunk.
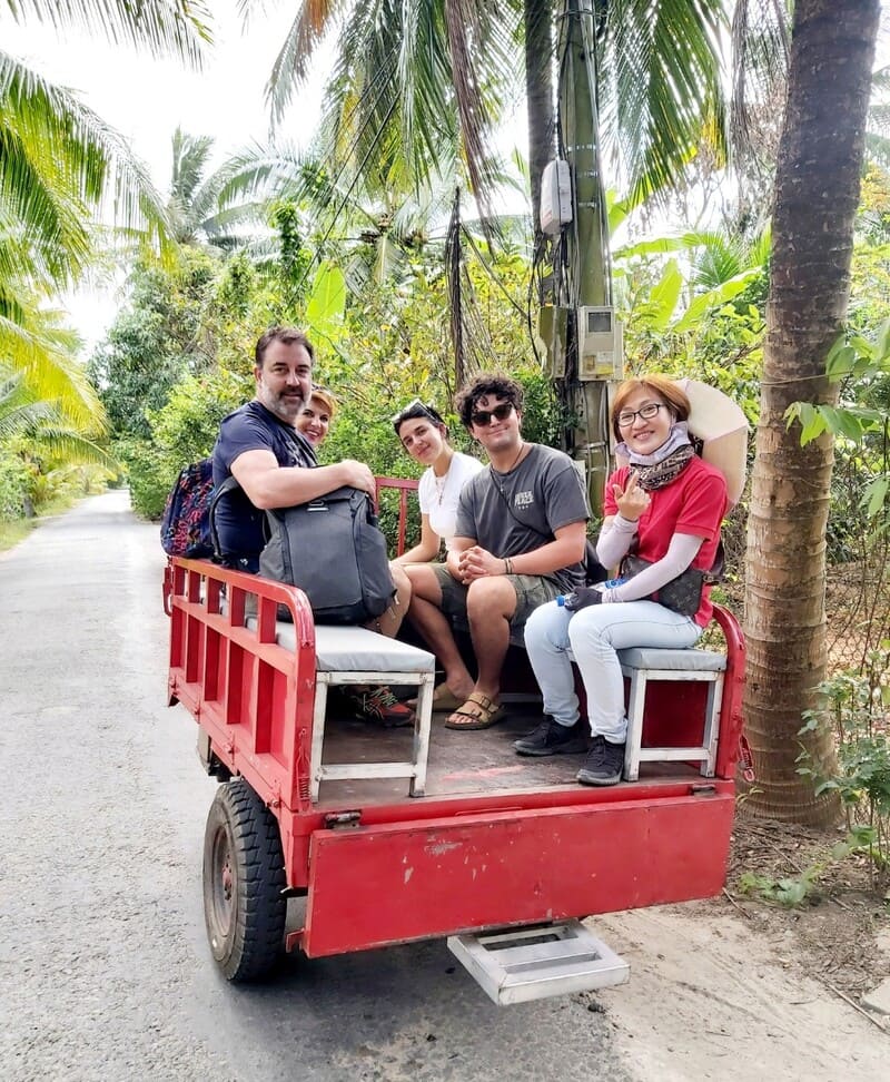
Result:
M335 26L317 144L332 171L345 168L379 190L408 194L435 174L465 170L484 207L498 168L488 136L518 82L515 4L306 0L270 80L274 117Z

